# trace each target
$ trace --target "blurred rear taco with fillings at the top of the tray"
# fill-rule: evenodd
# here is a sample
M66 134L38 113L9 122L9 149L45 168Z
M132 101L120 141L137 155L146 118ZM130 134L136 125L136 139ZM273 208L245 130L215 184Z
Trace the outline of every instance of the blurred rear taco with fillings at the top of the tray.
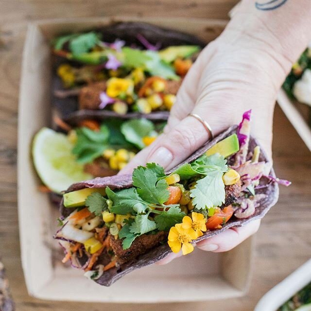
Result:
M167 120L204 46L194 36L136 22L56 37L54 107L66 122L116 116Z

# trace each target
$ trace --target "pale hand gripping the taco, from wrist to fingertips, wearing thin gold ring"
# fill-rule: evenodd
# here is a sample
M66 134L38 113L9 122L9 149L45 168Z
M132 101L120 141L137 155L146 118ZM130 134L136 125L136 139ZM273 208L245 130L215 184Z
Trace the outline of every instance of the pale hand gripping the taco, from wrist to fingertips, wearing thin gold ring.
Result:
M195 113L206 120L214 135L237 124L242 113L253 110L252 134L271 156L273 110L284 69L269 53L249 46L250 38L228 34L210 43L191 67L178 91L164 133L130 162L120 173L131 173L138 165L155 162L166 170L182 162L208 140ZM225 38L225 39L224 39ZM228 251L254 234L260 221L225 232L197 243L212 251ZM171 254L167 263L178 254Z

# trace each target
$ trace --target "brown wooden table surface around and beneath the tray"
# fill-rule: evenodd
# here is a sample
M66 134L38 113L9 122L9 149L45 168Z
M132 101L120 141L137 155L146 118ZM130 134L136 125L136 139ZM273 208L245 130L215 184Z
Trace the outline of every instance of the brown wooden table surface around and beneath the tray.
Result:
M147 3L148 2L148 3ZM7 268L17 310L207 310L250 311L277 282L311 257L311 154L276 107L276 173L290 179L257 234L250 292L207 303L107 305L43 301L28 296L20 263L17 221L17 103L23 41L28 21L54 17L189 16L227 18L237 0L0 0L0 255ZM178 3L178 4L177 4ZM251 99L250 99L251 100Z

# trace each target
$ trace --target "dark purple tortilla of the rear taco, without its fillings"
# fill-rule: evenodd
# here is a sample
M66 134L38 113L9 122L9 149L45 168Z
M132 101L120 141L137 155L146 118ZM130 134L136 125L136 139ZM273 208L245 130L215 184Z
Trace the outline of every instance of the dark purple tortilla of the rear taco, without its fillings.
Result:
M138 22L114 22L108 26L96 30L103 34L105 42L114 42L115 39L125 41L126 46L135 44L138 47L145 49L145 47L137 39L140 34L145 37L151 44L161 44L161 49L169 46L177 45L198 45L205 47L205 43L193 35L175 31L172 29L165 29L155 25ZM52 103L56 109L57 115L69 124L77 124L77 122L84 119L104 120L110 117L118 117L122 119L132 118L146 118L153 121L165 121L168 119L168 111L155 111L149 114L142 114L130 112L124 115L108 110L78 110L78 98L76 95L62 97L57 96L59 91L66 92L62 86L60 78L57 76L56 69L62 63L68 63L67 59L59 56L53 57L53 78L52 78ZM79 66L78 63L76 63Z

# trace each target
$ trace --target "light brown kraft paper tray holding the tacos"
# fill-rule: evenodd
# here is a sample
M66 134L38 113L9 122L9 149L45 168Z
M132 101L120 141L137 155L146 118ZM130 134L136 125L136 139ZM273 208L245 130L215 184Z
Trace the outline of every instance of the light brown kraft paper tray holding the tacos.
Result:
M213 254L195 249L188 256L152 265L101 287L60 261L63 256L52 235L58 210L48 195L37 190L40 181L31 161L31 142L51 122L50 48L55 35L83 31L112 21L143 21L197 35L206 42L217 37L225 21L193 18L91 18L48 20L28 27L20 84L18 120L18 217L21 259L29 294L42 299L93 302L173 302L242 296L250 280L252 239L234 250Z

